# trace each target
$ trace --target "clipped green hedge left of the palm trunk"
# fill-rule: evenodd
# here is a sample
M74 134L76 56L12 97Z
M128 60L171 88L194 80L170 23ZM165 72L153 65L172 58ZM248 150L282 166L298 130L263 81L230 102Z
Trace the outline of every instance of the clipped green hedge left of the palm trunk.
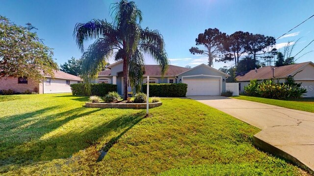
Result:
M87 96L87 85L83 83L70 85L73 95ZM91 95L105 96L108 92L117 91L117 85L112 84L90 84Z

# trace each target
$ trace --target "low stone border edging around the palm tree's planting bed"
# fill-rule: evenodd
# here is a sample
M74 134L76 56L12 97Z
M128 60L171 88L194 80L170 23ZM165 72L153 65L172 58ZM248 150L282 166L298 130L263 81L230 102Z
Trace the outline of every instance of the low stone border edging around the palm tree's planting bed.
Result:
M149 103L149 108L156 108L162 102ZM146 103L85 103L86 108L118 108L118 109L146 109Z

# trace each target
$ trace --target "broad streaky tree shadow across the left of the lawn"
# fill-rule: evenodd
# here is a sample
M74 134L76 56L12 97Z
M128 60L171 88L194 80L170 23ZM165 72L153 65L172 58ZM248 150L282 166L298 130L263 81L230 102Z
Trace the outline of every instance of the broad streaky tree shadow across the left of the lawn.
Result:
M144 111L137 111L137 113L133 114L125 113L112 120L104 120L104 123L91 126L88 130L81 132L68 130L69 132L62 135L52 135L51 137L41 139L45 134L62 128L62 125L73 119L101 110L80 107L40 117L36 121L38 114L56 110L57 108L50 107L23 115L8 116L0 120L0 124L8 124L0 127L0 132L7 129L6 132L2 132L5 137L0 137L0 168L10 164L27 165L37 161L68 158L79 150L83 150L93 144L99 144L99 140L104 136L117 132L117 136L108 141L108 143L114 144L114 139L120 138L145 117ZM66 118L58 120L57 118L60 117ZM27 125L28 123L31 124Z

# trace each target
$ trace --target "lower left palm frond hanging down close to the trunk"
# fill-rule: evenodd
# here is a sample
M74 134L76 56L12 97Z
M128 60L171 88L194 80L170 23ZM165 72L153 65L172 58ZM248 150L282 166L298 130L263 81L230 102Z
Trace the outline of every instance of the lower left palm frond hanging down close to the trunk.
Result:
M113 54L115 45L110 39L100 38L91 44L81 58L81 75L96 78Z

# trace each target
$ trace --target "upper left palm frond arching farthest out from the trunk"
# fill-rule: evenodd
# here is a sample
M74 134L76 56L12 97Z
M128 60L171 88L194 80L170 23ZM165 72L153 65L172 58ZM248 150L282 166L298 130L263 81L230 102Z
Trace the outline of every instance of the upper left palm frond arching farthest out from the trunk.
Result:
M77 23L75 25L73 36L78 48L84 52L84 42L87 40L98 39L100 37L117 36L114 26L104 20L92 20L86 23Z

